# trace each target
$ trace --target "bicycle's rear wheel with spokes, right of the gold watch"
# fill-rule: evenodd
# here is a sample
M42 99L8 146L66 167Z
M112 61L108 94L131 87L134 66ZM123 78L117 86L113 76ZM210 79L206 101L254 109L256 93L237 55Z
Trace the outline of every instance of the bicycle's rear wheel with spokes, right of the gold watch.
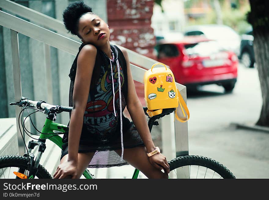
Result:
M180 156L168 162L169 178L231 178L235 176L216 160L203 156Z

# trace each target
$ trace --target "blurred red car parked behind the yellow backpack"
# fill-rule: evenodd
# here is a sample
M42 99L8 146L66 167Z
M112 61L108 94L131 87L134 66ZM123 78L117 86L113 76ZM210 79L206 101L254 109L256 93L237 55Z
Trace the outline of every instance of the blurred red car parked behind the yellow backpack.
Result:
M223 86L226 92L234 89L238 57L216 41L185 37L179 42L161 42L155 49L157 60L169 65L175 81L187 89L206 84Z

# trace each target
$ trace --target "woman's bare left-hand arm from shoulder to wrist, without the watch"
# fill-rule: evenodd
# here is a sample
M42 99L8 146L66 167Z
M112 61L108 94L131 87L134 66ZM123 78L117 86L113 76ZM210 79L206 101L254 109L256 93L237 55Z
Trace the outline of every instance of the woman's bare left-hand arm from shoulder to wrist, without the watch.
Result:
M93 45L85 45L77 60L76 79L73 91L73 110L69 123L68 161L77 163L79 139L83 126L83 116L89 96L97 50Z

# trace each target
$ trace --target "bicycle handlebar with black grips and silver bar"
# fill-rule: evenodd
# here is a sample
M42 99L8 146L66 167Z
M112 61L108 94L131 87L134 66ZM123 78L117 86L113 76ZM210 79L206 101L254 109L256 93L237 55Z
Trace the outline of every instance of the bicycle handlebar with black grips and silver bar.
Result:
M57 113L57 112L58 113L60 113L60 112L72 112L72 109L73 109L73 107L55 106L55 105L47 104L43 100L32 101L32 100L27 99L25 97L22 97L20 102L10 103L9 105L10 106L11 105L18 105L20 107L29 105L30 107L36 107L36 108L38 108L40 110L42 110L44 108L47 111L55 111L54 113Z

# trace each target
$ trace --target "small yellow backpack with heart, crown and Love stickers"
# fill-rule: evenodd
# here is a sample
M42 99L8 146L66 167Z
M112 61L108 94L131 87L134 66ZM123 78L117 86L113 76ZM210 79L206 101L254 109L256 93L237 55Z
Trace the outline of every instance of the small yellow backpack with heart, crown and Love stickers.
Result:
M175 85L175 77L173 72L165 65L164 67L153 69L154 66L159 64L164 65L160 62L156 63L152 65L151 69L146 71L144 75L145 101L148 108L147 113L149 117L153 117L155 115L161 114L165 108L176 108L175 118L177 118L178 121L186 122L190 118L190 112ZM185 109L187 113L187 119L181 119L176 114L179 105L184 117L186 117L186 114L183 108Z

